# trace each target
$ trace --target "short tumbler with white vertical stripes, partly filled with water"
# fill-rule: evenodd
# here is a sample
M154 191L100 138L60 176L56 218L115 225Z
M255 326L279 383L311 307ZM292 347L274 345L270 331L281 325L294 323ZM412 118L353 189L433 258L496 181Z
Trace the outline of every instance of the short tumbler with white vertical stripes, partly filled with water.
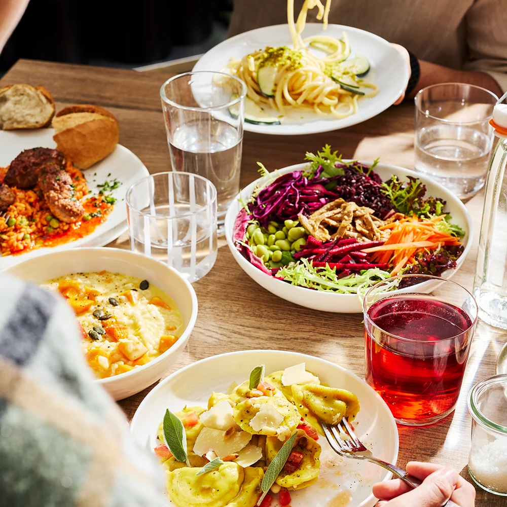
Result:
M166 263L189 282L216 260L216 189L188 172L159 172L138 180L125 196L130 247Z

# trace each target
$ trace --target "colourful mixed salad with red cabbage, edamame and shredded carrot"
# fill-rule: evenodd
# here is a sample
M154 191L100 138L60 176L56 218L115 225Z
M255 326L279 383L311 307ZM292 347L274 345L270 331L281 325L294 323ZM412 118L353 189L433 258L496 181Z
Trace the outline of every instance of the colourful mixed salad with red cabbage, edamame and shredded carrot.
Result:
M258 162L264 183L241 201L234 225L234 244L251 264L294 285L345 294L456 267L465 232L419 179L383 182L378 159L345 162L328 144L305 160L304 170L283 175Z

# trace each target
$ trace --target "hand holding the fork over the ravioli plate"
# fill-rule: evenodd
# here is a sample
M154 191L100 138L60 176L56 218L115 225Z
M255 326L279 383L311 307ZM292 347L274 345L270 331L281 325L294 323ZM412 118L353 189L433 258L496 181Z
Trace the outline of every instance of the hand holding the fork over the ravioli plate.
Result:
M423 483L416 489L401 479L375 484L373 494L381 500L378 507L441 507L449 499L459 507L474 507L475 488L456 470L418 461L409 461L406 470Z

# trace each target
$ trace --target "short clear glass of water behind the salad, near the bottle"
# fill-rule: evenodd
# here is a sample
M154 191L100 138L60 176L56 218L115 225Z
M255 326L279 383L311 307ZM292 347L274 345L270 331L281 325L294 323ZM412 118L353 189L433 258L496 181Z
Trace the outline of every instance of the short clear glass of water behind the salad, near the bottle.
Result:
M415 168L460 199L484 185L498 97L479 86L443 83L415 97Z

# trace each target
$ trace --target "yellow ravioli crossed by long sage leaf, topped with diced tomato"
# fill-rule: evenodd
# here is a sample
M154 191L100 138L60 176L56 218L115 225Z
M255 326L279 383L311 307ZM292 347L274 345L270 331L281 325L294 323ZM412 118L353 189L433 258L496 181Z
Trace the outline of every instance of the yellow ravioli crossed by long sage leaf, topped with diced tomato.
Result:
M303 459L295 472L288 473L284 469L280 472L276 479L276 484L287 489L302 489L310 486L318 479L318 472L320 468L320 445L312 438L308 437L309 443L306 449L302 446L296 447L298 452L303 454ZM268 437L266 440L266 459L267 463L271 463L273 458L278 454L283 443L276 437Z

